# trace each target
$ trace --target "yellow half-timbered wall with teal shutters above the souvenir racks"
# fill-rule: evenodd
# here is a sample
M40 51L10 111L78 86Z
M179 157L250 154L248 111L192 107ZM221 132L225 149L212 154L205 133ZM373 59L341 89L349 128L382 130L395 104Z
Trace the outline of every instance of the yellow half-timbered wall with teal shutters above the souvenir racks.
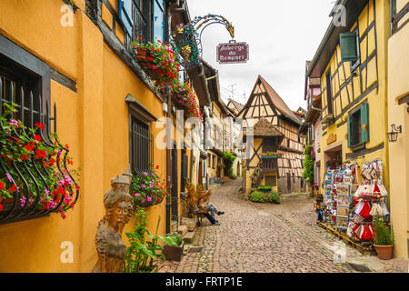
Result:
M374 9L374 3L376 5ZM376 12L376 17L374 16ZM387 106L386 106L386 47L385 43L388 37L388 20L389 20L389 6L385 5L382 1L369 1L364 11L359 16L357 23L359 23L359 35L361 38L361 64L368 62L367 66L361 71L357 69L358 76L354 76L354 85L351 83L341 90L340 95L334 101L334 116L338 119L334 124L329 125L327 128L323 128L323 136L321 138L321 177L325 172L325 158L324 152L334 146L342 145L343 161L345 161L346 154L352 153L352 149L348 147L347 142L347 123L346 119L348 113L354 108L362 105L364 102L368 102L369 105L369 141L365 146L367 149L373 149L377 146L384 145L382 149L374 151L373 153L365 154L356 159L350 161L356 161L358 165L362 166L364 162L372 161L380 158L384 162L384 185L389 188L389 176L388 176L388 142L386 132L388 130L387 125ZM354 30L357 23L353 25L351 31ZM371 28L372 25L372 28ZM364 35L366 32L366 35ZM376 32L376 34L375 34ZM375 41L376 37L376 41ZM372 58L371 58L372 57ZM341 65L336 72L338 65ZM346 79L351 77L350 64L348 62L341 62L340 46L337 45L336 51L327 65L324 74L321 76L321 89L323 92L322 105L324 108L323 117L328 114L326 108L326 87L325 87L325 74L331 69L331 74L334 75L332 81L333 96L337 95L340 91L341 85L344 84ZM334 72L336 72L334 74ZM345 72L345 73L344 73ZM362 80L361 80L362 77ZM378 88L374 88L370 91L371 85L378 84ZM361 90L362 86L362 90ZM350 100L348 101L347 92L349 90ZM352 98L352 92L354 92L354 98ZM368 93L369 92L369 93ZM361 98L361 96L364 97ZM361 98L361 99L360 99ZM354 105L350 105L355 101ZM349 108L347 106L350 105ZM347 108L347 109L345 109ZM344 110L344 114L342 113ZM328 143L328 136L335 135L334 141Z

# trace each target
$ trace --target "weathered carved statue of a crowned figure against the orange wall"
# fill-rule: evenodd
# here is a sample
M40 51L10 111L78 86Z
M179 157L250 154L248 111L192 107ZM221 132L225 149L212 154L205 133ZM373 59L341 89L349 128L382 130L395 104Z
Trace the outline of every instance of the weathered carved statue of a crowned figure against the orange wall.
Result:
M133 198L129 195L130 168L111 180L112 188L104 196L105 216L99 221L95 236L98 253L93 273L119 273L124 267L126 246L122 231L133 215Z

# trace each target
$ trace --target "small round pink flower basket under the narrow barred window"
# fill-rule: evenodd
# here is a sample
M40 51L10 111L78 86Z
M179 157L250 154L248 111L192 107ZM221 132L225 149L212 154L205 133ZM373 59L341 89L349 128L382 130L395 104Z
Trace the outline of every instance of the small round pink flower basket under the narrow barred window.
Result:
M154 206L160 204L169 195L165 179L157 174L159 166L151 166L151 170L132 176L131 195L135 206Z

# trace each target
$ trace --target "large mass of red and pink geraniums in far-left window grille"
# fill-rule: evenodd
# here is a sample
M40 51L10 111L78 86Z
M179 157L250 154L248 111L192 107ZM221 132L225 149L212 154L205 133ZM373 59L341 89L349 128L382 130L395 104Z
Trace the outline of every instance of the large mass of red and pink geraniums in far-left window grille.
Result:
M58 212L65 218L78 196L74 176L80 169L67 169L73 165L69 146L62 146L55 133L44 138L42 123L30 128L13 118L14 106L5 104L0 115L0 215L17 200L23 210Z

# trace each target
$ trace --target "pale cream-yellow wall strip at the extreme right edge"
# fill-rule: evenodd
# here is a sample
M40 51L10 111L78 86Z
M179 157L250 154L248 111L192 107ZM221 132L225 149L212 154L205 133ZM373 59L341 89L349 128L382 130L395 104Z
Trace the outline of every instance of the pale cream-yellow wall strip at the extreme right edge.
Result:
M402 135L389 145L391 218L395 256L408 257L409 239L409 113L398 99L409 94L409 25L388 42L388 125L402 125Z

